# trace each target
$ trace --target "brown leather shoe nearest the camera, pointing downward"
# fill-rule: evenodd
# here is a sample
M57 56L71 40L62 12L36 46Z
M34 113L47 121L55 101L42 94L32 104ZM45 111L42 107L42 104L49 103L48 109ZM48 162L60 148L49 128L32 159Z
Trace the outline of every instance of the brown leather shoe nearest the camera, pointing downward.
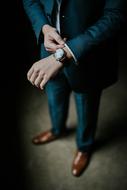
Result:
M80 176L86 169L89 162L90 154L88 152L77 151L72 164L72 174Z

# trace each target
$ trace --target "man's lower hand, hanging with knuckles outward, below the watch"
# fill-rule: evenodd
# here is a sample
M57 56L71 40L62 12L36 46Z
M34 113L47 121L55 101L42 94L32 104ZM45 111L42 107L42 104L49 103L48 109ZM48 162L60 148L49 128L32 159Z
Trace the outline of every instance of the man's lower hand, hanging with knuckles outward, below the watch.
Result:
M53 77L63 64L57 62L53 55L50 55L34 63L27 73L28 80L38 88L43 89L48 80Z

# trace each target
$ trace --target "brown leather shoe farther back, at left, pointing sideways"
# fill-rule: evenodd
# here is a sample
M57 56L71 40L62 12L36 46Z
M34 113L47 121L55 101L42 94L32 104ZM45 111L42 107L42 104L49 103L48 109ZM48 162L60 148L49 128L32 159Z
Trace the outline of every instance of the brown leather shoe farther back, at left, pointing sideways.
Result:
M57 139L58 136L54 135L50 130L45 131L33 138L32 142L36 145L45 144Z

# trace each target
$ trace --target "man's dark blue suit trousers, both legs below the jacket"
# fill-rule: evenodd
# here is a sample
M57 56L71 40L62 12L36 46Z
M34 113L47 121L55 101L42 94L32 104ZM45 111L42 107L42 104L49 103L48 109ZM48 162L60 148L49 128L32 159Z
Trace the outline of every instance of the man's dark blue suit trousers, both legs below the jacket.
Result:
M58 73L46 85L52 132L56 135L60 135L66 129L71 92L72 90L63 72ZM78 118L77 148L80 151L89 151L94 142L101 90L73 93Z

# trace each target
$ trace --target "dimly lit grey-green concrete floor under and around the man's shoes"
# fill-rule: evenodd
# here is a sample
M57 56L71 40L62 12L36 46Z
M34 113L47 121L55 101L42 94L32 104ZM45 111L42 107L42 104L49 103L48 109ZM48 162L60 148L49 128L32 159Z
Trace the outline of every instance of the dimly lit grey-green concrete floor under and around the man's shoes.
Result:
M95 151L80 178L71 174L76 150L75 130L46 145L31 143L35 134L50 128L50 119L45 93L25 82L18 101L18 132L26 190L127 189L127 69L124 55L121 55L119 81L103 91ZM67 126L76 128L76 125L72 94Z

